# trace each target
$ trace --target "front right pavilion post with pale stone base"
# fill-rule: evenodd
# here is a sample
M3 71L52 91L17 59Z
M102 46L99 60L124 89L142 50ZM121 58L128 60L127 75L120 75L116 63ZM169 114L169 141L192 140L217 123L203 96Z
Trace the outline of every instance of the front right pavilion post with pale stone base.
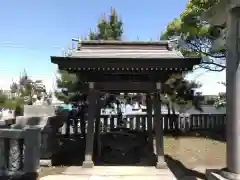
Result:
M163 121L161 120L161 83L156 83L158 93L154 94L154 122L156 133L156 155L157 155L157 169L166 168L164 160L164 144L163 144Z

